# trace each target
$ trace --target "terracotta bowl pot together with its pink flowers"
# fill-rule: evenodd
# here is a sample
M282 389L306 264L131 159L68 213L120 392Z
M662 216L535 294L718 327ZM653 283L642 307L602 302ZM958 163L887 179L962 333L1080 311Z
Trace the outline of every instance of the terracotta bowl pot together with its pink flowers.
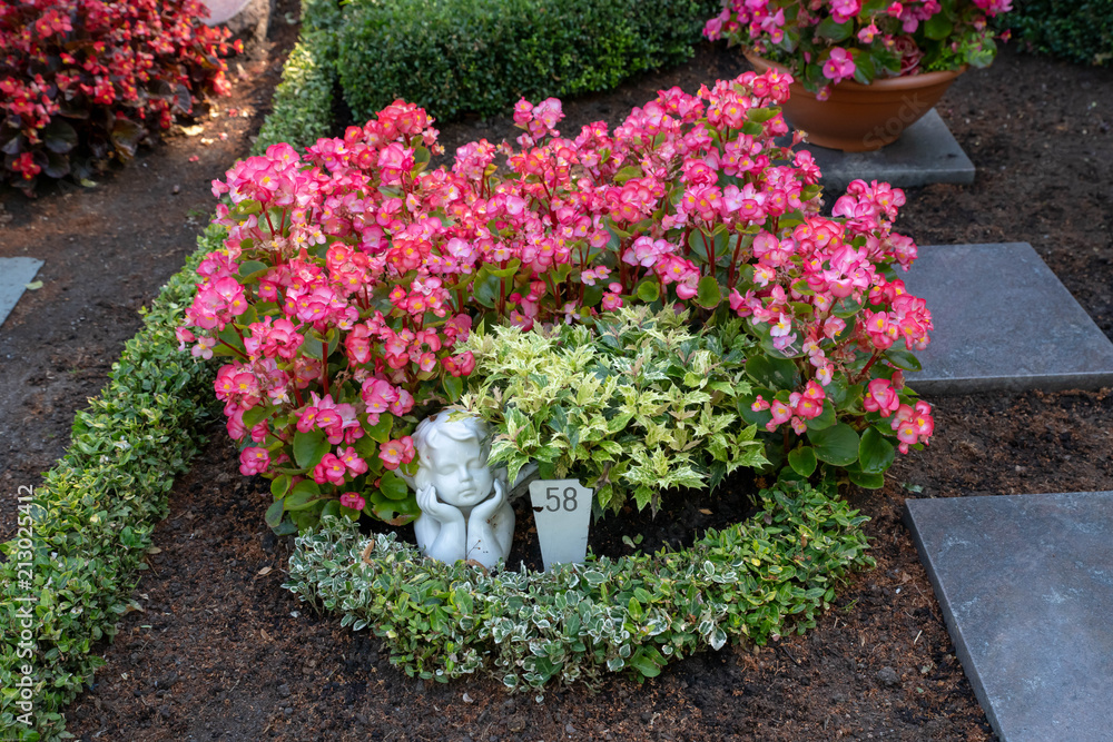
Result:
M968 67L996 56L988 20L1012 0L725 0L703 29L764 71L792 75L786 118L814 144L895 141Z

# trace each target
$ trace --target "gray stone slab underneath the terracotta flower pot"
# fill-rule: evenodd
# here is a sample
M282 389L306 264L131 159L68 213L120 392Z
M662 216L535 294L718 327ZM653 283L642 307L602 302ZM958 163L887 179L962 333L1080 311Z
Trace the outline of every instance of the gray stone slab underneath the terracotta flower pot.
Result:
M877 151L841 152L816 145L801 146L815 156L824 174L820 182L833 196L858 178L866 182L881 180L897 188L974 182L974 164L934 108L899 139Z

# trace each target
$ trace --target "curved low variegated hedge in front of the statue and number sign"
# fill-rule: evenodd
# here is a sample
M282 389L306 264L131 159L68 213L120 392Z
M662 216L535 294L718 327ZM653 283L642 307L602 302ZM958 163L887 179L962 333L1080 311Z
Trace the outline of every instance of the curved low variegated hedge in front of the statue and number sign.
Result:
M812 627L834 582L873 567L865 516L820 489L761 493L761 511L691 548L589 557L548 573L487 574L424 560L394 534L368 538L326 518L296 540L284 587L342 625L371 626L391 662L447 682L486 670L515 690L597 683L603 671L641 680L728 640L765 644Z

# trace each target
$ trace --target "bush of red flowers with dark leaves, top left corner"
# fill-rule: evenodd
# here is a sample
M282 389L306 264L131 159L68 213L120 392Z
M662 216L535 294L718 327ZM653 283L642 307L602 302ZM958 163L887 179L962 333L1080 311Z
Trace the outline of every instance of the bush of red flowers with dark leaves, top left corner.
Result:
M78 180L227 91L226 30L197 0L29 0L0 6L3 182Z

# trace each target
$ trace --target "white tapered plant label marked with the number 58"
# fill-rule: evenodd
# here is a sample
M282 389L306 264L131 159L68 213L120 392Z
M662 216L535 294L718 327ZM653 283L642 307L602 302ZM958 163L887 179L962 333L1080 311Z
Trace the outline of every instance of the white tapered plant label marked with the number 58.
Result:
M538 524L545 571L554 564L582 564L588 555L591 497L575 479L535 479L530 483L533 520Z

